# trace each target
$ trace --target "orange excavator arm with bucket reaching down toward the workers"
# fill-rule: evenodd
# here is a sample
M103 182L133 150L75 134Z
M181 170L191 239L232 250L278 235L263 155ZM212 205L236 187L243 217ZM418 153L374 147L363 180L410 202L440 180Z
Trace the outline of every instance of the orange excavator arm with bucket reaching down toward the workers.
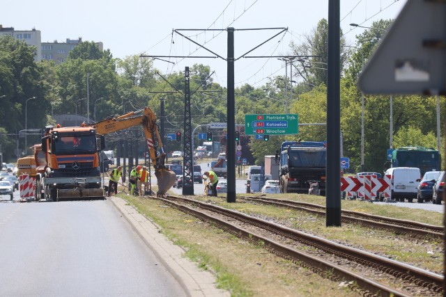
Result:
M155 168L155 176L158 182L157 195L163 195L174 185L176 175L175 172L169 170L164 165L166 154L164 153L160 132L156 125L156 115L151 109L145 107L139 111L132 111L116 118L107 118L86 126L94 127L98 134L109 134L139 125L142 126L146 136L146 145L151 156L153 168ZM160 154L157 153L155 147L155 137L159 145Z

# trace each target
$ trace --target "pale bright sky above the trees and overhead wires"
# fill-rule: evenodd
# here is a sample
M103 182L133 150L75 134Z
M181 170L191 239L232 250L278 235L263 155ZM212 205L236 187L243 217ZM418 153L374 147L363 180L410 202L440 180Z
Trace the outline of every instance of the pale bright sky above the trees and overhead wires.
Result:
M364 29L349 24L371 26L379 19L395 19L407 0L341 0L341 29L347 45L355 45L355 35ZM131 55L215 56L200 49L173 30L213 29L231 26L235 57L239 58L282 29L288 28L247 56L291 54L289 44L300 44L317 23L328 19L329 0L15 0L2 3L0 24L16 30L40 30L42 42L65 42L67 38L103 42L115 58ZM178 31L226 58L226 31ZM226 86L226 61L222 58L162 58L153 65L166 75L183 72L196 63L209 65L213 80ZM240 58L235 63L236 87L249 83L260 87L268 77L284 75L284 62L277 58ZM299 81L299 78L293 78Z

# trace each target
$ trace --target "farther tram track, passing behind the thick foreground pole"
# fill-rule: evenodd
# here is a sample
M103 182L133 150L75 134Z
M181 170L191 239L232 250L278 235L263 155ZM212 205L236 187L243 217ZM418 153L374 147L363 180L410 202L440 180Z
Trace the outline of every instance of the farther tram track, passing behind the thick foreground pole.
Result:
M307 202L298 202L293 200L282 200L266 197L249 197L242 196L244 200L249 202L263 203L275 205L277 207L286 207L298 211L307 211L317 216L325 216L325 207L318 204ZM373 214L364 214L360 211L341 211L341 220L344 223L353 223L364 227L374 229L388 230L397 234L407 234L408 236L431 237L433 239L443 239L443 226L429 225L413 220L401 220L397 218L387 218L385 216L376 216Z

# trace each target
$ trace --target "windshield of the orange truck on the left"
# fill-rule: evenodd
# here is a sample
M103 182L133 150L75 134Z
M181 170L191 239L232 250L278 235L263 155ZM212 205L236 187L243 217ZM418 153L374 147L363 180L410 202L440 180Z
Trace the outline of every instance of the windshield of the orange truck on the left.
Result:
M88 136L59 136L54 140L55 153L78 152L91 154L96 152L96 138Z

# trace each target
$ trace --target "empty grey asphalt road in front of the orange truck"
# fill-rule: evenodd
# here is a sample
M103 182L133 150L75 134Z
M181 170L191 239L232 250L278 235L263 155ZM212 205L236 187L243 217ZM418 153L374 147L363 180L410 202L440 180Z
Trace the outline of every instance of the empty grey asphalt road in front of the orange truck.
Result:
M185 296L108 200L5 201L0 242L0 296Z

